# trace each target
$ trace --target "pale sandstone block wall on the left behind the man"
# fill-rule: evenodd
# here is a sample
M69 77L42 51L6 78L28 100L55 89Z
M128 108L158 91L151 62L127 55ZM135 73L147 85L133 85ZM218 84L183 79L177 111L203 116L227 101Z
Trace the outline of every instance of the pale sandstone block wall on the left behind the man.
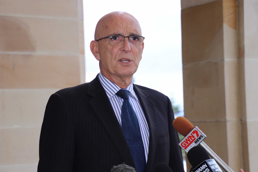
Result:
M0 171L37 171L48 98L84 66L82 0L0 0Z

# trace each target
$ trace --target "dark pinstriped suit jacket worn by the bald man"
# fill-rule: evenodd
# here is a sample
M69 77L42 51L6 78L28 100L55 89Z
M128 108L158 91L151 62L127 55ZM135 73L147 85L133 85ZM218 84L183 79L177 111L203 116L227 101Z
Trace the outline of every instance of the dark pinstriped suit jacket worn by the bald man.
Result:
M159 162L184 172L171 101L160 92L133 85L149 126L146 172ZM90 83L51 95L40 134L38 172L110 172L134 166L122 129L98 76Z

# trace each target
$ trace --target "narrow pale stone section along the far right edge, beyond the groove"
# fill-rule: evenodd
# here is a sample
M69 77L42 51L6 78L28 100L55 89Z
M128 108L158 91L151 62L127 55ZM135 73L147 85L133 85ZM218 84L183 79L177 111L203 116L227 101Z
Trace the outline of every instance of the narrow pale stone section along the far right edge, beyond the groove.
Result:
M258 159L258 1L238 1L239 109L245 172L257 171Z

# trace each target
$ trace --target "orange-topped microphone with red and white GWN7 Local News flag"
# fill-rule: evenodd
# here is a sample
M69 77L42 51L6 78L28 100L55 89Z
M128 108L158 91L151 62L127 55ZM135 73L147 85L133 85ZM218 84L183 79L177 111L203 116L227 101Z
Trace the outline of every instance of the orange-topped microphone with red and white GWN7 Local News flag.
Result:
M200 145L207 151L210 157L213 158L221 168L223 168L224 171L234 172L215 152L213 152L213 150L211 150L210 147L207 146L206 143L204 143L203 140L206 138L206 135L198 127L194 127L186 118L180 116L175 118L173 121L173 127L178 133L185 136L183 140L180 141L179 146L182 147L186 153L192 147Z

